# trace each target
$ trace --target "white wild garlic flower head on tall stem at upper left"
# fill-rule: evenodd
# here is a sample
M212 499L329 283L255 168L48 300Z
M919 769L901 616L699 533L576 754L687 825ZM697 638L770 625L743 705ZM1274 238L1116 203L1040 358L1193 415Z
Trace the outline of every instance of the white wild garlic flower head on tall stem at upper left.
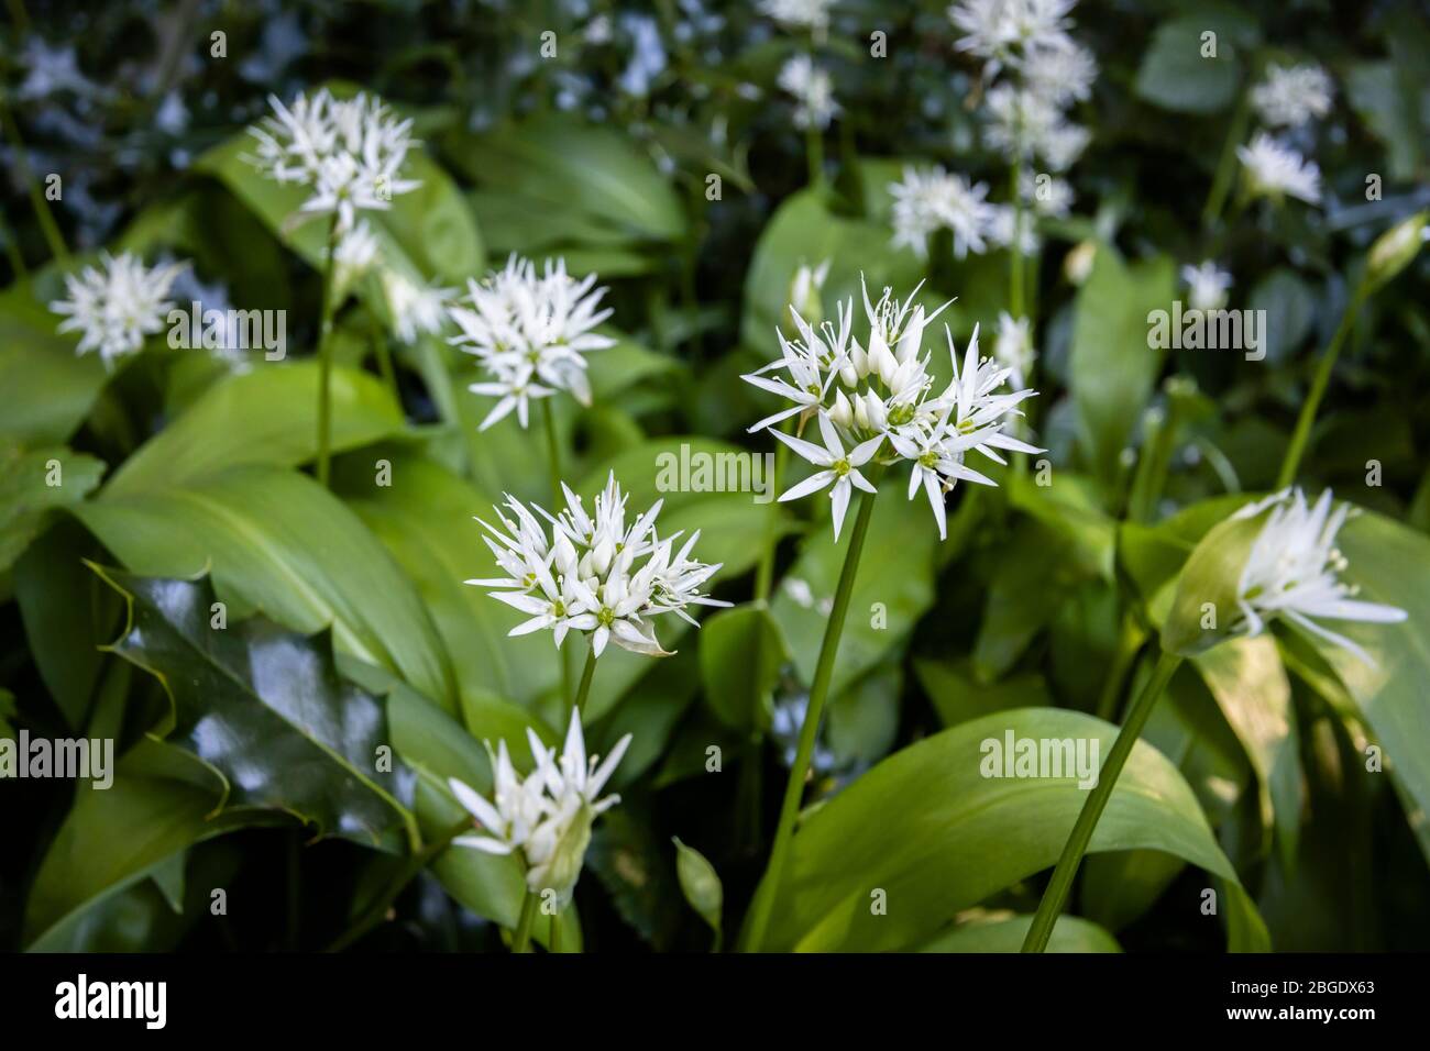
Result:
M385 210L393 194L420 182L402 177L412 149L412 122L399 120L369 94L335 99L325 87L285 106L269 96L273 113L250 129L257 142L247 160L279 183L312 187L300 212L335 214L339 233L360 210Z

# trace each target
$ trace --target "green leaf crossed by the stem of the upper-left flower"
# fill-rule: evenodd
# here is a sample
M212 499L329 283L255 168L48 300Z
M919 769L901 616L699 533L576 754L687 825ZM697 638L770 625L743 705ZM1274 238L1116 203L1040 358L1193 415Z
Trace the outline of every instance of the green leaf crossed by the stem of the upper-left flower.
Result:
M197 482L225 468L260 463L290 468L317 455L316 362L260 365L229 376L130 456L104 495L133 496ZM388 389L358 369L333 369L335 452L376 442L403 428Z

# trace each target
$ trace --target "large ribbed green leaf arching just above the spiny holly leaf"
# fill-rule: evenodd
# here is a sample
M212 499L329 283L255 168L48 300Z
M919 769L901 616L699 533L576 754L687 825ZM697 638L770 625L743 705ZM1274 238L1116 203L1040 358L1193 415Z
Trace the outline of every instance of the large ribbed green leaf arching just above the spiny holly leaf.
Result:
M169 490L107 495L76 509L127 569L192 578L212 569L230 621L262 609L396 671L456 709L452 666L413 585L382 543L306 475L240 466Z

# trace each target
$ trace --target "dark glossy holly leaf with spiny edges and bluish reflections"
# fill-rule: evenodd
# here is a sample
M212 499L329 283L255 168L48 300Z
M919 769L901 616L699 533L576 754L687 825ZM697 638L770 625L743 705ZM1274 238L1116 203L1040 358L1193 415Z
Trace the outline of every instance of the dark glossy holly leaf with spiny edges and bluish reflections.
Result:
M396 845L410 815L392 764L382 768L382 705L337 675L330 635L297 635L263 616L216 626L207 581L94 572L129 606L107 649L163 684L173 712L160 732L223 775L220 806L282 811L317 837Z

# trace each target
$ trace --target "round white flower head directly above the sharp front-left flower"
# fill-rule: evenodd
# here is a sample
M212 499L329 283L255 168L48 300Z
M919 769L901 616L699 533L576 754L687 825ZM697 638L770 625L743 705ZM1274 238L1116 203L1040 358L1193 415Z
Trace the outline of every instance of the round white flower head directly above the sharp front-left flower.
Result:
M568 390L591 405L586 359L615 340L592 332L611 316L598 310L606 290L595 289L596 275L575 280L566 262L546 262L538 276L531 260L512 256L506 269L483 282L468 282L468 297L450 307L460 333L449 342L476 355L492 379L472 383L473 393L499 399L482 420L482 430L516 410L525 428L529 402Z

